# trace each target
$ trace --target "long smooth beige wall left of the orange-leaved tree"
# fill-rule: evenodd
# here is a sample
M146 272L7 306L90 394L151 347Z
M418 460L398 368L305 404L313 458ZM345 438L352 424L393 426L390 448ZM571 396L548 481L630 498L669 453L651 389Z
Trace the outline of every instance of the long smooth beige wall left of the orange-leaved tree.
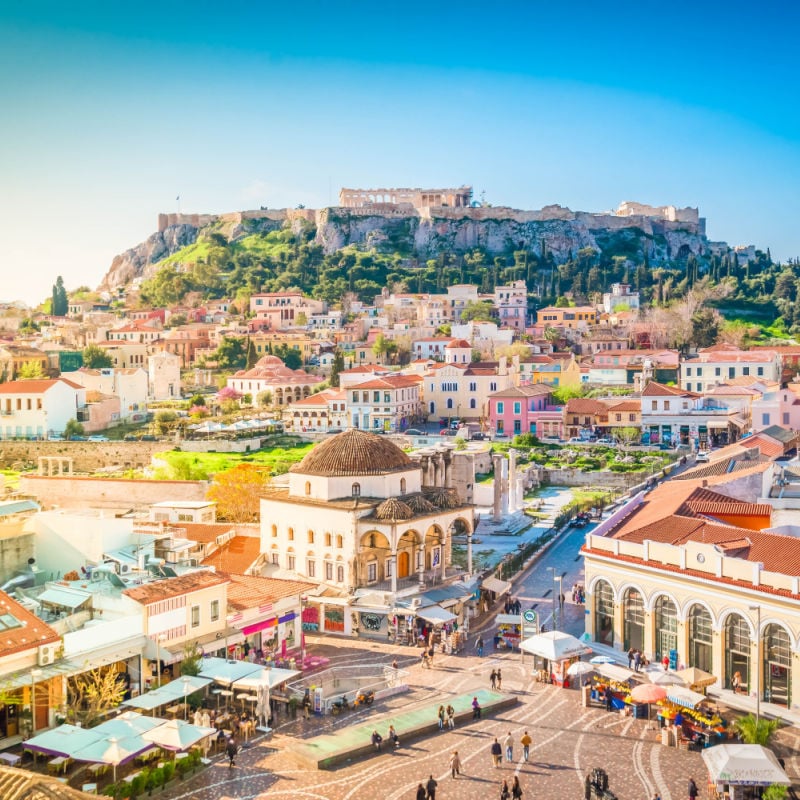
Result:
M205 500L208 481L124 480L121 478L21 475L19 488L42 508L142 508L164 500Z

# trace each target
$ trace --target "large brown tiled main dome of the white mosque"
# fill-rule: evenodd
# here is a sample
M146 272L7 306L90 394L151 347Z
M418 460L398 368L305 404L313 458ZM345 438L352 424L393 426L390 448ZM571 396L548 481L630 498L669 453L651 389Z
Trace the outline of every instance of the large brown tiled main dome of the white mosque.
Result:
M315 447L292 472L328 478L384 475L414 469L414 462L385 436L351 428Z

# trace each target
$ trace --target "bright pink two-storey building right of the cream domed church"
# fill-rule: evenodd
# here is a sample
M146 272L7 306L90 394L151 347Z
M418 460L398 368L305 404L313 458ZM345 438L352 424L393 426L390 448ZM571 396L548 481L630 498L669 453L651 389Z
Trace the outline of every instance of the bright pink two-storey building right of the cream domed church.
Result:
M489 395L489 423L495 433L534 433L562 438L563 414L553 406L553 387L546 383L512 386Z

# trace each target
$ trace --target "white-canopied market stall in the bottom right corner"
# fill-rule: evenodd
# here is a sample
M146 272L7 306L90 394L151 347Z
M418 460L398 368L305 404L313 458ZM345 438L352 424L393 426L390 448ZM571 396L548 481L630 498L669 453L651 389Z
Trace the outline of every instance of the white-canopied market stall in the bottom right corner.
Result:
M708 768L709 797L758 800L765 786L791 781L775 754L758 744L722 744L703 751Z

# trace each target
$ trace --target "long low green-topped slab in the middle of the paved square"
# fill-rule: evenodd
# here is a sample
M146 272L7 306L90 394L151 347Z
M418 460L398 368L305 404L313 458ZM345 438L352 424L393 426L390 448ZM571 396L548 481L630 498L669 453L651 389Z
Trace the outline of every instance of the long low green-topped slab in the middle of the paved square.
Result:
M292 746L292 753L306 766L312 769L330 769L337 764L352 761L359 756L375 753L372 744L372 732L377 730L383 736L383 750L393 749L388 741L387 731L389 725L394 725L401 746L406 741L439 733L437 711L439 705L452 705L455 709L456 726L472 721L472 699L478 698L481 707L481 716L487 716L493 711L515 706L518 702L514 695L493 692L488 689L479 689L476 692L447 697L443 695L442 703L425 705L413 711L401 714L390 714L378 719L372 719L363 725L342 728L335 734L323 734Z

